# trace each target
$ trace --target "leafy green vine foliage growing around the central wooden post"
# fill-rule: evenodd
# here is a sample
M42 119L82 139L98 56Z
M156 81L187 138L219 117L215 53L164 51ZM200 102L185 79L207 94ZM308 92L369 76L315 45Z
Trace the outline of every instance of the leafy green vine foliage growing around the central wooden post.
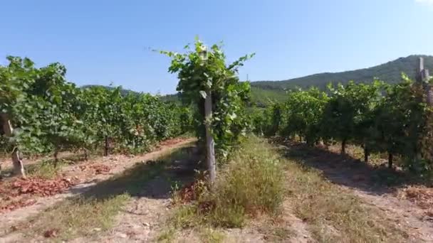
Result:
M204 139L204 99L212 94L212 134L216 153L226 156L232 146L239 142L248 122L244 115L244 104L249 99L249 82L239 82L238 68L253 55L245 55L230 65L221 46L212 45L208 50L198 39L194 46L185 46L186 53L161 51L172 58L169 72L177 73L179 92L184 104L196 104L196 133Z

